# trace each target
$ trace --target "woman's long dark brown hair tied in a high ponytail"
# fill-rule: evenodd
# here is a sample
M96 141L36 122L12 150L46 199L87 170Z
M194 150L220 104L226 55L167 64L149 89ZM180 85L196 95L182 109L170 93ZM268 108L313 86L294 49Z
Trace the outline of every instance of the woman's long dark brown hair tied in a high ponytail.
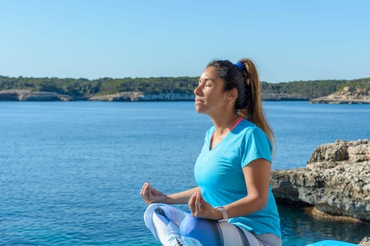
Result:
M229 60L214 60L207 67L215 68L217 77L223 79L225 91L237 89L238 98L235 101L235 110L238 115L261 128L275 146L275 135L262 108L257 68L250 59L239 60L239 63L242 63L242 67L237 67Z

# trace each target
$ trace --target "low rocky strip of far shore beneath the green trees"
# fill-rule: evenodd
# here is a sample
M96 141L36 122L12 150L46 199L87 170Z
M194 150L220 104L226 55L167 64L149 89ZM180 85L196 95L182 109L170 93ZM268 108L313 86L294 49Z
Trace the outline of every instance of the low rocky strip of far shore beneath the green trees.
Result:
M369 83L370 82L366 82ZM370 87L369 87L370 88ZM309 101L328 104L369 104L370 89L364 86L345 86L328 96L304 96L300 93L274 93L262 91L262 101ZM192 92L150 93L142 91L121 91L119 93L90 93L85 96L55 91L32 89L0 90L0 101L194 101Z

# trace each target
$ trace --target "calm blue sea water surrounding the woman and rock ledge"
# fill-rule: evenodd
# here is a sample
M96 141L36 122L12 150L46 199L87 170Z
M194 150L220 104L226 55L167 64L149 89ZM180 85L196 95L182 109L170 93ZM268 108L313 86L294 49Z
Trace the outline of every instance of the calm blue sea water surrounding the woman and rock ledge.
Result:
M278 138L274 169L304 167L322 143L370 138L370 105L264 106ZM195 186L210 125L192 102L0 103L0 245L159 245L142 221L142 183ZM279 209L283 245L369 236L369 225Z

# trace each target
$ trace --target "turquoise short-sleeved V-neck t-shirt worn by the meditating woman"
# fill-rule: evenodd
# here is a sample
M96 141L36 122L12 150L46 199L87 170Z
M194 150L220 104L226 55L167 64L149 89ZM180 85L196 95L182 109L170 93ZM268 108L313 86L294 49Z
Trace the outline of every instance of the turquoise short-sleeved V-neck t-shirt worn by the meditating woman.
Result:
M209 150L214 131L215 127L211 127L206 132L202 152L195 163L195 180L204 200L218 207L247 195L242 168L259 158L271 162L271 142L264 131L243 119L218 145ZM281 236L280 218L271 188L264 209L231 218L229 222L257 235L273 233Z

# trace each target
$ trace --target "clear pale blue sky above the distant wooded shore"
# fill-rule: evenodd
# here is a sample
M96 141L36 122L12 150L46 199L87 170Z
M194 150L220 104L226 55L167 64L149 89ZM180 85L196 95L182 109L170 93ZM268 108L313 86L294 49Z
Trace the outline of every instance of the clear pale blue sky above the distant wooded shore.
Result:
M3 76L198 76L244 57L266 82L370 77L370 1L0 0Z

